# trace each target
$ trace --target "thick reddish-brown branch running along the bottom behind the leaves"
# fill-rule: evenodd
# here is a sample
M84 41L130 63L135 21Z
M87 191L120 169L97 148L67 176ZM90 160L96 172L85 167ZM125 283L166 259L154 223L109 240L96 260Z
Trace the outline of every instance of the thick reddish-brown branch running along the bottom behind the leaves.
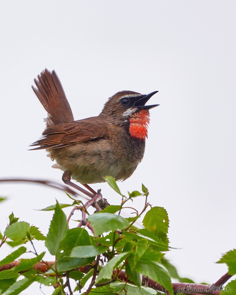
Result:
M93 276L93 279L91 282L93 284L94 284L94 281L96 278L98 262L99 262L99 258L97 257L96 262L94 263L93 266L86 265L86 266L81 266L81 267L77 268L77 270L82 273L87 273L90 271L91 268L94 268L94 276ZM13 267L17 266L19 263L20 263L20 260L16 260L16 261L13 261L12 263L2 265L2 266L0 266L0 271L4 271L6 269L12 269ZM46 263L49 266L53 266L55 261L46 261ZM49 270L49 266L45 265L45 263L36 263L35 266L33 266L33 268L37 271L40 271L41 273L45 273L46 271ZM117 270L114 270L113 275L116 275L116 274L117 274ZM229 273L226 273L216 283L213 283L212 285L202 285L202 284L193 284L193 283L172 283L172 286L173 286L173 290L174 290L175 294L183 293L186 295L189 295L189 294L219 295L220 292L223 291L223 288L222 288L223 284L226 283L231 277L232 276ZM119 273L118 278L121 281L132 283L131 281L129 281L128 277L125 275L124 270L122 270ZM113 281L113 280L110 280L110 281ZM110 281L108 281L107 283L109 283ZM146 281L147 281L146 277L142 276L143 285L145 285ZM151 280L150 278L148 278L148 287L155 289L157 291L161 291L161 292L166 293L166 290L163 288L163 286L161 286L157 282ZM167 292L167 294L168 294L168 292Z

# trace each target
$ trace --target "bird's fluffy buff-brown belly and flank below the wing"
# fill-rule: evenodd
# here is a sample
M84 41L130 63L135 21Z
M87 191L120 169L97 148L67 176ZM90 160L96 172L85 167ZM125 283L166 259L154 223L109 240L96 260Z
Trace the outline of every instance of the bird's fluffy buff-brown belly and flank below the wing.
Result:
M104 176L112 176L118 181L132 175L142 160L144 148L141 155L137 150L124 153L124 148L114 147L112 144L107 146L107 141L100 139L56 151L51 149L49 152L51 158L58 163L59 169L70 171L71 178L79 183L90 184L104 182Z

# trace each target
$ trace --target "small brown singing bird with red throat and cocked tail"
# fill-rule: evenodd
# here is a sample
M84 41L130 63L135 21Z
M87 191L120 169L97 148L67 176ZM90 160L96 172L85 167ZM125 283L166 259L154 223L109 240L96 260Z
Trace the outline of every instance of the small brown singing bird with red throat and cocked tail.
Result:
M116 180L130 177L144 155L149 110L159 105L145 104L158 91L117 92L98 116L75 121L55 71L45 69L37 77L37 88L32 88L47 111L47 128L31 146L50 153L57 168L65 171L64 183L78 188L73 178L96 194L87 184L104 182L107 175Z

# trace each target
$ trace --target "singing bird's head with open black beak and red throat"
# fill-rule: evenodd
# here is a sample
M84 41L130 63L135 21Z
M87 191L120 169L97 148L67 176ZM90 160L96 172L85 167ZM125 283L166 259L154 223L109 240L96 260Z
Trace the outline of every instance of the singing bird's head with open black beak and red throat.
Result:
M112 117L115 124L128 124L132 137L145 139L148 134L149 110L159 106L145 104L157 92L141 94L134 91L119 91L109 98L101 115Z

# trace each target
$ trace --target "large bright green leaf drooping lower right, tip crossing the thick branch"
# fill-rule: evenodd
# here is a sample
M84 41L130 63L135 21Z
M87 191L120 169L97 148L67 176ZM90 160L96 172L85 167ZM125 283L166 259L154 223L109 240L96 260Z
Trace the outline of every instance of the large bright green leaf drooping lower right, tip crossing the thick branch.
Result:
M171 277L167 269L160 263L160 258L162 256L163 254L154 252L148 248L144 255L138 260L135 271L158 282L173 295Z

